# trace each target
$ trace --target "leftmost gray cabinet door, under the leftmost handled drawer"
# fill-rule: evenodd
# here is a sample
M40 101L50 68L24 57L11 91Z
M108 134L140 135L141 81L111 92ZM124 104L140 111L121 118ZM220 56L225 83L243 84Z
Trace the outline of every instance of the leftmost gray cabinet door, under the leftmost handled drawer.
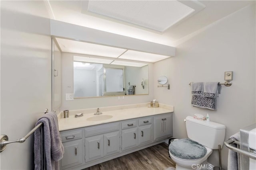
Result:
M72 166L76 166L83 163L82 156L82 139L65 142L64 155L62 160L60 160L60 168L65 169Z

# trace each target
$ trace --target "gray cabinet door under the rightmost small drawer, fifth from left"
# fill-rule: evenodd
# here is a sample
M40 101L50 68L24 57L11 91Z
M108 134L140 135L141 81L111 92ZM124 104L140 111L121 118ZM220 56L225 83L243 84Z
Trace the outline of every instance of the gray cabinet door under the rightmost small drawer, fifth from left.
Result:
M138 127L138 144L142 145L145 143L152 142L153 133L152 133L152 125L144 125Z

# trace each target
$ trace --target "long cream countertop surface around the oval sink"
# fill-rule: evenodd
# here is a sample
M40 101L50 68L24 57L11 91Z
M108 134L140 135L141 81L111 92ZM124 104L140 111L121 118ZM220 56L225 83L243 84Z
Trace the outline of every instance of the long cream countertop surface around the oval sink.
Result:
M163 113L173 112L173 107L169 109L165 109L162 107L135 107L130 109L118 109L112 111L102 111L102 115L112 115L113 117L106 120L101 121L87 121L88 117L98 116L94 115L94 113L84 113L82 117L74 117L74 115L69 115L68 118L60 118L59 119L59 131L75 129L80 127L87 127L92 125L99 125L102 123L110 123L114 121L121 121L126 119L133 119L138 117L145 117L151 115L158 115ZM83 112L82 112L83 113Z

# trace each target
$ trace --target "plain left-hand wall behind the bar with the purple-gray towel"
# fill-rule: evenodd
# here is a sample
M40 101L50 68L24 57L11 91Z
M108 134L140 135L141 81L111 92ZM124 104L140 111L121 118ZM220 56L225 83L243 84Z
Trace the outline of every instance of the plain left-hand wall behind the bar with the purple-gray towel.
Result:
M43 1L1 1L1 135L9 141L24 137L51 109L47 15ZM9 144L0 154L0 169L34 169L33 150L34 135Z

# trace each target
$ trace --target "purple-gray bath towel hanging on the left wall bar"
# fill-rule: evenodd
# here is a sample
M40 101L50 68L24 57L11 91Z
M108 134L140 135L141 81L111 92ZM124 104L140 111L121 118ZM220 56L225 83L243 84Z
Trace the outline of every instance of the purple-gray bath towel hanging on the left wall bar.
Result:
M35 170L41 170L42 161L41 145L44 145L45 153L45 169L58 170L59 160L63 158L64 147L61 142L58 117L53 112L46 113L43 117L38 119L36 125L43 123L43 134L40 128L36 129L34 133L34 163ZM41 139L44 139L41 143Z

